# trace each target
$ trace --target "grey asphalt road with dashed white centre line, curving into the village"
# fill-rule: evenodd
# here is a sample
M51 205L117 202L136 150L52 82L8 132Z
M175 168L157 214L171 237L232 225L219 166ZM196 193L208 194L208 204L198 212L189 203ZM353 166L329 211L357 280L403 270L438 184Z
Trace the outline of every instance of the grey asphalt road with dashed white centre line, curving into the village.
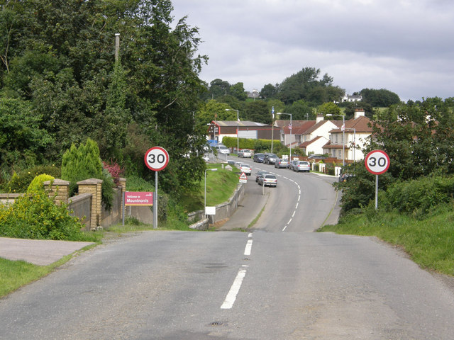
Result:
M311 232L336 194L275 172L250 232L151 231L86 251L0 300L0 339L454 339L445 281L377 239Z

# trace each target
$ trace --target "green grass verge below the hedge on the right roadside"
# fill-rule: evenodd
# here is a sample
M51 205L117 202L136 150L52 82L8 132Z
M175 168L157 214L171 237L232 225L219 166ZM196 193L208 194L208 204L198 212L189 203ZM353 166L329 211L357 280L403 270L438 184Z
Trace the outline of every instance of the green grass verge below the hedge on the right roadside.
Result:
M450 205L439 206L423 220L397 212L367 210L319 231L375 236L402 246L421 268L454 276L454 213Z

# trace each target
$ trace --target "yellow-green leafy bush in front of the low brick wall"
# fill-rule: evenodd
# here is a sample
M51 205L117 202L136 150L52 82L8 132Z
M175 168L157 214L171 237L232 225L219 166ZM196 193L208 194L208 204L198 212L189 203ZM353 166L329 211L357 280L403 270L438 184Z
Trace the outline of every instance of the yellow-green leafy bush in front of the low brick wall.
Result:
M1 237L84 241L82 227L67 205L55 205L45 193L26 193L11 205L0 205Z

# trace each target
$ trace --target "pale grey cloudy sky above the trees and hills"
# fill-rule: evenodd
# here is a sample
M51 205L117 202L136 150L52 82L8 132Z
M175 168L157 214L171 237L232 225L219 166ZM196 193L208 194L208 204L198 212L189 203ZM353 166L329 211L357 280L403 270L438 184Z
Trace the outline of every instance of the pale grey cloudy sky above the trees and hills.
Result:
M199 28L200 79L280 84L305 67L346 94L454 97L453 0L172 0Z

